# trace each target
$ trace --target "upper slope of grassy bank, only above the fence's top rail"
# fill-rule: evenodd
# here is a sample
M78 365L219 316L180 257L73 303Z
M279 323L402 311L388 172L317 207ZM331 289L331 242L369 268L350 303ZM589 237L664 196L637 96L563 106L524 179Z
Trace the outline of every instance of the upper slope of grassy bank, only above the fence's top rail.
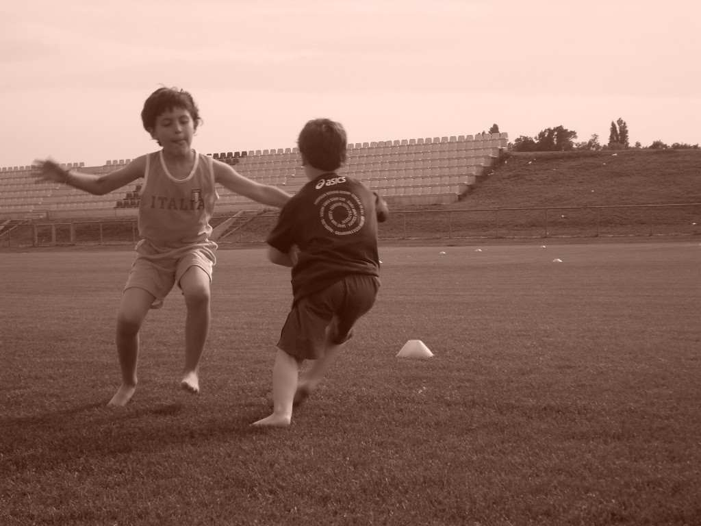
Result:
M508 153L449 208L670 203L701 203L701 150Z

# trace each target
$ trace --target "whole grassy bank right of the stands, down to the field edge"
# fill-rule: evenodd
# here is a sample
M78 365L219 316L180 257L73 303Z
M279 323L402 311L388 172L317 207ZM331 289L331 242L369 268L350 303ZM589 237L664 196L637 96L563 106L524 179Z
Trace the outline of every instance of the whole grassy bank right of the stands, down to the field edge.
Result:
M509 152L457 203L391 207L405 217L381 236L441 238L447 228L453 238L700 234L699 205L564 210L683 203L701 203L700 150ZM498 219L494 212L515 208L534 210L502 211Z

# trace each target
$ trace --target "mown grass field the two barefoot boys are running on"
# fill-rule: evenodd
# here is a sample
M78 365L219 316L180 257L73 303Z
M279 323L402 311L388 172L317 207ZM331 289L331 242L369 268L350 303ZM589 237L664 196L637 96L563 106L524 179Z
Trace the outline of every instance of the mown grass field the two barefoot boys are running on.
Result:
M203 392L177 389L173 292L115 410L132 252L0 252L1 525L701 524L698 238L384 245L374 310L287 430L250 423L289 271L217 257ZM408 339L435 356L396 358Z

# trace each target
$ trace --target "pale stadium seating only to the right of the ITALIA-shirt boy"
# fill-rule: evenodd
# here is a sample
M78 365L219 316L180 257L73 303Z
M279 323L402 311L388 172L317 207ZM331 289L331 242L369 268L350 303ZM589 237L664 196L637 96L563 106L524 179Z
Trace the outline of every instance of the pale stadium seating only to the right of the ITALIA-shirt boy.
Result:
M339 174L365 182L390 205L454 203L498 159L507 143L506 133L494 133L348 144L348 160ZM214 157L252 180L292 193L306 183L297 148L230 151ZM256 206L226 189L219 194L220 205Z

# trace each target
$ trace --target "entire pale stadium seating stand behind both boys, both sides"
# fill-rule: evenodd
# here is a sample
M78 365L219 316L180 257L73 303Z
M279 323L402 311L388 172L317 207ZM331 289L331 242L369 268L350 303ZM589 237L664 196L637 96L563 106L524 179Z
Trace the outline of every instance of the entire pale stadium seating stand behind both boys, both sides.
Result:
M506 133L493 133L348 144L348 160L339 175L365 182L390 205L449 204L458 201L475 184L507 143ZM252 180L283 187L293 194L307 182L296 147L210 155ZM129 162L130 159L120 159L102 166L62 166L99 175ZM93 196L63 184L36 183L33 169L0 169L0 220L129 217L138 213L140 180L104 196ZM217 187L217 191L217 212L261 208L259 203L223 187Z

